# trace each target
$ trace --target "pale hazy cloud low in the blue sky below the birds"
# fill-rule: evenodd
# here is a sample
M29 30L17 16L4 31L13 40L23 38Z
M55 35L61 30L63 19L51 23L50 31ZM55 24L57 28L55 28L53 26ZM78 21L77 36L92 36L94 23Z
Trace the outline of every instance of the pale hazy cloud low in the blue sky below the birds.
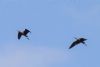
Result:
M68 61L66 51L57 48L9 45L3 48L3 52L0 67L48 67Z

